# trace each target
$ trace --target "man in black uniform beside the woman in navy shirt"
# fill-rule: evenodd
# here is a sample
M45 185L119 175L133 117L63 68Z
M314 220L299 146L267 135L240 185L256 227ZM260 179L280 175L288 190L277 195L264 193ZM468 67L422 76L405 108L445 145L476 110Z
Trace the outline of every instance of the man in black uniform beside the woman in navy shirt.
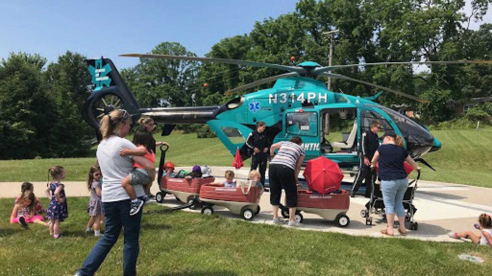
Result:
M379 147L379 138L377 137L377 133L382 129L381 123L379 121L372 121L370 123L370 128L368 131L362 134L361 146L362 146L362 155L359 166L359 172L354 180L354 187L352 188L352 192L350 195L352 197L355 196L355 193L359 191L359 187L361 187L362 181L366 179L366 197L370 197L372 178L374 173L370 169L370 161L374 156L377 148Z

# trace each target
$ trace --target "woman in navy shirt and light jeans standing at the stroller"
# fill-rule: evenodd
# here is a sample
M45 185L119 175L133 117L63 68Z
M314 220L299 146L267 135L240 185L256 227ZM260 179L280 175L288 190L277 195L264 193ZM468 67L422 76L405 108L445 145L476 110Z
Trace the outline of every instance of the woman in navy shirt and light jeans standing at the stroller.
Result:
M388 228L381 233L393 236L393 222L395 221L395 209L400 221L398 232L406 235L405 209L403 208L403 195L408 187L408 175L403 168L403 162L420 170L415 161L403 148L403 138L392 132L383 136L383 144L380 145L372 158L371 167L379 161L379 178L381 178L381 191L383 193L384 206L386 208L386 219Z

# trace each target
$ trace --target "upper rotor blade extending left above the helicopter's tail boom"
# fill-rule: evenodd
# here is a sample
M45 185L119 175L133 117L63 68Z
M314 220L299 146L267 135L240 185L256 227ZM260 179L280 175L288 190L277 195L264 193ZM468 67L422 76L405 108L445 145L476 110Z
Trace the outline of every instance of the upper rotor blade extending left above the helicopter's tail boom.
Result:
M254 67L275 68L280 70L286 70L289 72L297 72L300 75L304 75L306 73L304 68L297 67L297 66L287 66L287 65L272 64L272 63L265 63L265 62L258 62L258 61L247 61L247 60L228 59L228 58L184 56L184 55L155 55L155 54L122 54L120 56L141 57L141 58L161 58L161 59L181 59L181 60L191 60L191 61L201 61L201 62L236 64L236 65L246 65L246 66L254 66Z

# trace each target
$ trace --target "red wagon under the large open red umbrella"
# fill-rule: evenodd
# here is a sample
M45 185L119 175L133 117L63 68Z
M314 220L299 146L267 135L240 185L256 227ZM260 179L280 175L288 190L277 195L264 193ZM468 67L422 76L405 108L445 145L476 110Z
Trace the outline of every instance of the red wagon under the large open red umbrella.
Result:
M350 223L347 211L350 206L350 193L339 190L340 193L319 194L309 190L297 191L297 210L295 220L303 222L301 211L316 214L328 221L335 221L338 226L346 227ZM280 205L282 216L289 217L289 208Z

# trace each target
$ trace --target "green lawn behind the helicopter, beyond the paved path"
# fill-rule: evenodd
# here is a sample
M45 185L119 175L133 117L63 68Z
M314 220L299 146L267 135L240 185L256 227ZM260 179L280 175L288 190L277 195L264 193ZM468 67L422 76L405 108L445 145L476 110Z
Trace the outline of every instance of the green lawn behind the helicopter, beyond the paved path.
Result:
M421 165L422 179L492 187L492 128L480 130L434 130L442 148L424 156L436 171ZM196 138L196 134L173 133L168 137L156 134L157 141L171 144L166 160L176 166L231 166L233 157L217 138ZM160 158L157 150L156 164ZM67 181L84 181L95 158L0 161L0 181L45 181L49 166L66 168ZM249 160L245 162L249 166Z

